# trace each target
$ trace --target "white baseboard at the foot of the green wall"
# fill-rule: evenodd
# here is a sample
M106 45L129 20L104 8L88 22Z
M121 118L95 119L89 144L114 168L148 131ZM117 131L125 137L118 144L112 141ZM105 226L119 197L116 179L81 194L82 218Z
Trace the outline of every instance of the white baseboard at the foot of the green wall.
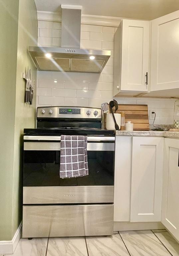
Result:
M0 241L0 254L13 254L22 235L22 221L10 241Z

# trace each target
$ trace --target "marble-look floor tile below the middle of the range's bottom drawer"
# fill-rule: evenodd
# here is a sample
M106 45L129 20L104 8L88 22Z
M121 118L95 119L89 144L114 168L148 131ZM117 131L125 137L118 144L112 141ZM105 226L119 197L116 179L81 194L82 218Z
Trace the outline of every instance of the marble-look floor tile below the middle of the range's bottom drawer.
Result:
M87 256L84 237L49 238L47 256Z

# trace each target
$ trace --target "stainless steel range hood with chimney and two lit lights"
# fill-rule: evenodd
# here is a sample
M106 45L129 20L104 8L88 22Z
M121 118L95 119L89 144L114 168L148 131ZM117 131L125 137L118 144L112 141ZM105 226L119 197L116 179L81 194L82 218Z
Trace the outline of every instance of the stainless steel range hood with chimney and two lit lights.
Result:
M62 47L29 46L29 53L38 70L101 73L110 57L110 51L81 49L82 7L61 7Z

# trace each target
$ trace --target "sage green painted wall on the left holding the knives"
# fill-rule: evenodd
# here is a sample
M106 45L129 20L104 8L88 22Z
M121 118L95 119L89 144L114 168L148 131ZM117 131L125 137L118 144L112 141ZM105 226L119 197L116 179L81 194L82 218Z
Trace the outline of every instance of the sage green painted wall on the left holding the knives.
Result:
M28 47L37 45L37 10L34 0L1 0L1 166L0 240L12 240L22 220L22 136L24 128L35 127L36 95L33 105L24 103L27 67L36 68ZM16 33L15 33L16 32ZM5 35L5 36L4 36ZM2 39L3 38L3 39ZM4 110L4 111L3 111Z

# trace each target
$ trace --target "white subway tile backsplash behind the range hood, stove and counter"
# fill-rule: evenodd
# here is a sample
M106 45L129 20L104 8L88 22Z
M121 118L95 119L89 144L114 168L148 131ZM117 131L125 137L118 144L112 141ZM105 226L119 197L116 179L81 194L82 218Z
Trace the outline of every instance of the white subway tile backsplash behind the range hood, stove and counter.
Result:
M61 46L61 22L38 21L38 45ZM37 71L37 106L100 107L112 99L113 36L117 28L81 25L81 48L103 49L111 56L97 73ZM54 80L57 82L54 83ZM147 104L155 109L154 124L173 124L174 99L115 97L119 104ZM149 120L152 124L153 120Z

